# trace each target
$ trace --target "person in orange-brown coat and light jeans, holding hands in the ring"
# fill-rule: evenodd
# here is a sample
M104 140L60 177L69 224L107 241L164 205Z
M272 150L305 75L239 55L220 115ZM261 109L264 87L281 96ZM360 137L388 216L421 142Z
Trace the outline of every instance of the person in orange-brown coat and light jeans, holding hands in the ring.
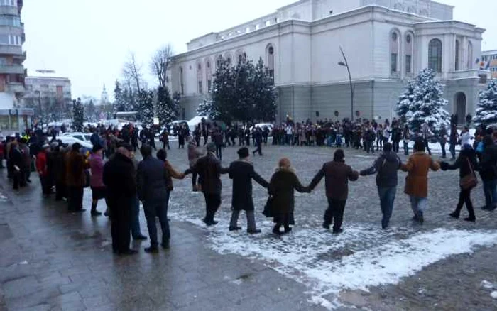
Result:
M425 153L424 141L415 142L413 155L409 157L408 163L400 167L404 172L408 172L404 192L410 196L413 220L421 224L425 221L423 212L428 202L428 170L437 171L439 168L440 165Z

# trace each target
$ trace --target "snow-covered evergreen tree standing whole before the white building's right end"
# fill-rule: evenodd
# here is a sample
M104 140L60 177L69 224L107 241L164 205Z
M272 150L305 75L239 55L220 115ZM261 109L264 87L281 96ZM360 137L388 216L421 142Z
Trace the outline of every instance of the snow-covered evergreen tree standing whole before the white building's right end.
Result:
M435 79L435 72L421 70L413 81L408 82L405 92L399 97L397 112L411 131L420 132L427 123L433 131L449 126L449 113L444 109L447 100L442 97L444 85Z

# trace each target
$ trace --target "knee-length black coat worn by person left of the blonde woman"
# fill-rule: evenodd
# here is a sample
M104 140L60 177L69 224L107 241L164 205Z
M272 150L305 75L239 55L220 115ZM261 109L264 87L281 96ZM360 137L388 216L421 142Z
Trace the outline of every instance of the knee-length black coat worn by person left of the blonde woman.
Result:
M236 211L253 211L252 179L262 187L269 187L268 182L253 170L253 165L243 160L229 165L229 178L233 180L231 208Z

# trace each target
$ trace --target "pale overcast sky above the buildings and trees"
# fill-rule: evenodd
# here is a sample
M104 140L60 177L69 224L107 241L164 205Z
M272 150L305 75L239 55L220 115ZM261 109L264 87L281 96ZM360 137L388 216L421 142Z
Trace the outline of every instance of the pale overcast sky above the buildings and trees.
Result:
M73 97L100 98L103 84L112 95L124 60L133 51L150 82L153 52L171 43L176 53L186 43L272 13L296 0L25 0L24 66L30 75L52 69L72 81ZM483 50L497 49L497 1L439 0L455 6L454 19L486 28Z

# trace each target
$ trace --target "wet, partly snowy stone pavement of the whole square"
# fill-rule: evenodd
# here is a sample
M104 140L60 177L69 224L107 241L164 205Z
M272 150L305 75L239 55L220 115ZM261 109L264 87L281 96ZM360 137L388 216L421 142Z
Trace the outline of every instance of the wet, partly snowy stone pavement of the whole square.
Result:
M252 158L269 179L287 156L307 185L334 148L273 147ZM187 168L187 151L169 160ZM224 149L224 165L236 148ZM405 160L405 157L403 157ZM360 170L374 156L346 150ZM380 229L374 177L351 183L344 234L321 229L327 207L324 181L295 198L295 229L271 234L262 207L266 190L254 185L256 217L263 233L229 233L231 182L223 177L222 207L215 228L206 228L203 196L190 179L175 181L171 195L172 247L158 255L111 253L106 217L69 214L63 203L41 199L38 181L13 195L0 173L0 310L496 310L497 222L483 212L481 185L474 190L476 224L453 220L457 172L430 173L425 224L413 224L408 197L399 186L391 229ZM90 192L84 204L89 209ZM104 209L104 203L99 204ZM463 212L464 213L464 212ZM141 214L142 232L146 225ZM244 214L240 224L246 228Z

